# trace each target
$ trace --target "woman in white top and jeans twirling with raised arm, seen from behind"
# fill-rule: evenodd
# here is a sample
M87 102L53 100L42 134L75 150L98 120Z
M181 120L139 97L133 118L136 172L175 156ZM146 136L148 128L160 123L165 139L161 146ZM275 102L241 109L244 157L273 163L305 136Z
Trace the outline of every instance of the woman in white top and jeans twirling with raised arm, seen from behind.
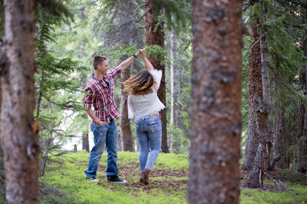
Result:
M140 146L140 181L147 185L149 184L149 172L161 152L162 124L159 111L165 106L157 96L162 71L153 69L144 51L140 50L140 52L148 71L140 71L126 80L124 91L129 94L128 116L129 118L135 117L135 133Z

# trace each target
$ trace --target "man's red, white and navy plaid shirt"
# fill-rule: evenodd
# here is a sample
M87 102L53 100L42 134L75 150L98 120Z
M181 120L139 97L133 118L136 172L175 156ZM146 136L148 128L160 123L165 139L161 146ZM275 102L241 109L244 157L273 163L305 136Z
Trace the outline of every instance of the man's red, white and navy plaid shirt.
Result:
M109 83L109 89L102 80L95 78L94 74L91 77L91 81L87 84L85 91L88 94L85 94L83 97L83 107L91 109L91 104L93 104L94 114L100 121L109 123L109 117L112 117L114 120L119 117L113 96L113 83L116 76L120 73L122 73L122 69L116 66L103 75L103 80ZM91 124L96 123L92 120Z

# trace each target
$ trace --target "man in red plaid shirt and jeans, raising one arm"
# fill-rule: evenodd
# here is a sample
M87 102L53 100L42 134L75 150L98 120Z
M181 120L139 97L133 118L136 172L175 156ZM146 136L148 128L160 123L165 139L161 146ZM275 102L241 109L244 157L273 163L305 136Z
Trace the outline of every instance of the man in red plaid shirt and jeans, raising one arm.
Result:
M143 50L146 50L143 49ZM113 84L116 76L125 70L131 62L140 55L140 51L126 59L119 66L108 71L109 65L106 57L95 56L93 59L94 74L87 84L83 97L84 107L87 114L92 118L91 131L94 135L94 147L91 150L88 161L88 168L85 175L93 182L98 182L96 173L98 162L103 153L104 144L107 146L107 180L119 183L126 183L118 176L117 162L117 129L115 119L119 117L113 96ZM94 112L91 109L94 106Z

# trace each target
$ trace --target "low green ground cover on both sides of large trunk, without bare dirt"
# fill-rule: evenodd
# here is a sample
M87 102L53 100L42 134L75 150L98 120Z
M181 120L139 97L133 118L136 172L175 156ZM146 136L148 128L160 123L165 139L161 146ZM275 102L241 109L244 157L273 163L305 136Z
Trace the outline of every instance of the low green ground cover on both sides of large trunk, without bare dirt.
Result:
M187 203L187 187L166 186L166 191L162 191L162 186L150 184L151 190L146 191L146 186L133 188L125 184L114 184L105 180L106 173L97 172L98 183L93 183L85 179L84 170L87 168L89 153L85 151L66 154L62 156L65 167L63 169L48 172L43 179L48 184L49 196L41 192L41 203ZM107 154L99 162L99 166L106 166ZM135 152L118 152L118 166L127 166L137 162L138 153ZM158 170L188 170L189 158L185 154L159 154L153 171ZM56 164L52 164L55 165ZM132 167L131 167L132 168ZM135 167L133 167L135 168ZM134 184L139 182L139 176L126 174L119 168L119 175L128 180L128 183ZM138 169L137 169L138 171ZM134 174L134 172L132 172ZM136 172L137 175L139 172ZM187 181L188 177L157 176L151 177L152 181ZM42 184L42 183L41 183ZM46 184L42 186L46 188ZM271 181L266 180L266 185L274 185ZM305 203L307 202L307 187L299 184L286 183L288 191L282 193L262 191L258 189L242 188L240 193L240 203ZM51 197L53 198L51 198Z

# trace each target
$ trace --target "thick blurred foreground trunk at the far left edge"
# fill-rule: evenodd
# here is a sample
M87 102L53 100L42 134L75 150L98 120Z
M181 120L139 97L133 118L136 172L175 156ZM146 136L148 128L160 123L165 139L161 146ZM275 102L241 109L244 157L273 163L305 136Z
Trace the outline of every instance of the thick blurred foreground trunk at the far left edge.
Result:
M38 137L33 133L35 19L33 0L5 0L5 53L1 68L1 143L6 201L38 202Z

